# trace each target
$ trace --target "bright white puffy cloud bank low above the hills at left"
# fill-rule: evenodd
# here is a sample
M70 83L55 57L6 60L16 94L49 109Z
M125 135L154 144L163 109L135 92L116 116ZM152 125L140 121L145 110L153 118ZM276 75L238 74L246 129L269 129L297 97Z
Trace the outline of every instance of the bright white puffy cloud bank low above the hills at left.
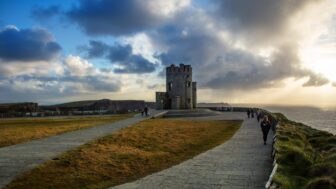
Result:
M15 66L16 71L1 75L0 101L10 102L18 99L38 102L50 102L55 99L63 101L62 98L65 97L119 92L122 86L120 78L115 74L102 71L78 56L69 55L64 61L50 63L51 66L43 67L44 72L41 73L39 69L35 69L40 68L41 63L31 65L28 71L25 70L26 65L7 64ZM2 68L0 66L0 73ZM22 71L18 71L20 69Z

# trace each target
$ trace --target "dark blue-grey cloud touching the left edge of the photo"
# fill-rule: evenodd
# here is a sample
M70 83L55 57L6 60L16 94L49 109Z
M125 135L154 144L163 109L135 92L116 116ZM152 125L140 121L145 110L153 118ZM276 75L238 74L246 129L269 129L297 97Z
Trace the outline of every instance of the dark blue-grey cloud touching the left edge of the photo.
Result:
M0 30L0 59L6 61L50 60L61 46L44 29L6 27Z

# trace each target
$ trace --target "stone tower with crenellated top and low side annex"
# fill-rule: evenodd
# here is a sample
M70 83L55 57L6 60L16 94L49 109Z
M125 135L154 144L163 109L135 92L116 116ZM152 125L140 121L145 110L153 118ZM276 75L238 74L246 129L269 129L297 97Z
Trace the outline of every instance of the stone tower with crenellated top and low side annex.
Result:
M190 65L172 64L166 68L166 91L156 92L157 109L196 108L196 82L192 81Z

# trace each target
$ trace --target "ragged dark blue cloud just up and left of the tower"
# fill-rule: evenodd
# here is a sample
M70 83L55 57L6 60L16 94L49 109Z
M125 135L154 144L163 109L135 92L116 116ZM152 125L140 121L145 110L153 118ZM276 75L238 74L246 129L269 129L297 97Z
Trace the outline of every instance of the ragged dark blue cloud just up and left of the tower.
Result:
M112 64L120 66L115 73L151 73L155 64L141 55L132 54L130 45L107 45L100 41L90 41L89 46L82 46L89 58L106 58Z

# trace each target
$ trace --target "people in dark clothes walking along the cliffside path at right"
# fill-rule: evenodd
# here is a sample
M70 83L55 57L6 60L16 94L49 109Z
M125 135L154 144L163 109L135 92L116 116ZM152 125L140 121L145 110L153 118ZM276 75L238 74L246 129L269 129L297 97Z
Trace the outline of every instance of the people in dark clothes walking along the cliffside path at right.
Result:
M269 132L269 130L271 129L272 126L275 126L277 124L276 120L274 120L274 119L271 120L268 117L268 115L260 109L257 109L255 111L255 109L250 108L250 109L247 110L247 117L248 118L254 118L255 115L257 117L258 123L261 120L260 128L261 128L261 131L262 131L262 134L263 134L264 145L266 145L268 132Z

